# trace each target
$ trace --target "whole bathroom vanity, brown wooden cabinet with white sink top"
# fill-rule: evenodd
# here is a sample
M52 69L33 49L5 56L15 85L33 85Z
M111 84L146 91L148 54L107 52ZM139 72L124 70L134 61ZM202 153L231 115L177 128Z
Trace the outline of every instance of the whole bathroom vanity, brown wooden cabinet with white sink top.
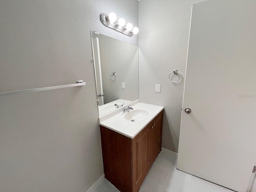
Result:
M138 192L161 150L163 107L138 103L100 122L104 174L121 192Z

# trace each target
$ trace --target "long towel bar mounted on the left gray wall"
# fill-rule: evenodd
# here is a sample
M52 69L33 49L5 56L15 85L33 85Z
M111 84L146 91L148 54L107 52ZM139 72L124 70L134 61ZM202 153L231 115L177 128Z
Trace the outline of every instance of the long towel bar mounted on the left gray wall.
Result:
M83 85L86 85L85 82L77 81L74 84L68 84L68 85L59 85L59 86L52 86L52 87L44 87L44 88L36 88L36 89L26 89L26 90L19 90L19 91L3 92L3 93L0 93L0 96L6 96L6 95L11 95L11 94L15 94L15 93L24 93L24 92L46 91L46 90L52 90L52 89L76 87L76 86L83 86Z

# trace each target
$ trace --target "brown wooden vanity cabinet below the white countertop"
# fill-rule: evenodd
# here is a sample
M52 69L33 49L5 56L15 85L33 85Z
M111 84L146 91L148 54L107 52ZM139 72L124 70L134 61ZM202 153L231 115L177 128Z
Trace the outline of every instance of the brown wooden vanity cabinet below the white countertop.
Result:
M100 126L105 178L121 192L138 192L161 151L163 110L133 139Z

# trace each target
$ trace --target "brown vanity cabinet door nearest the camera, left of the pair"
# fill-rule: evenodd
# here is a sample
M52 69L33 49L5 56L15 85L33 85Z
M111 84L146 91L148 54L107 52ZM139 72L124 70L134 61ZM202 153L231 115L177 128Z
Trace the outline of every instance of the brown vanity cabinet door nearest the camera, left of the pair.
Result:
M151 166L151 148L152 137L150 123L132 140L133 192L139 190Z

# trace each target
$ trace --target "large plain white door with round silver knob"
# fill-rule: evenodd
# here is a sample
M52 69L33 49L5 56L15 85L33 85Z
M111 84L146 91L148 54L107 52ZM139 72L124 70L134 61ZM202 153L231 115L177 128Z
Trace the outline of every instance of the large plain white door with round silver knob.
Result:
M255 160L256 0L194 4L177 168L246 192Z

